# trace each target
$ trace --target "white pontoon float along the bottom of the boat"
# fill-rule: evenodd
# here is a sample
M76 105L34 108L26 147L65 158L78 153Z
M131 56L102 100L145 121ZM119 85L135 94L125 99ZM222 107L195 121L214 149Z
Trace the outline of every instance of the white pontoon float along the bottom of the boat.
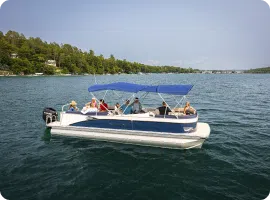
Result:
M63 126L59 122L47 126L51 127L52 135L172 149L201 148L210 135L210 127L206 123L198 123L195 132L183 134Z

